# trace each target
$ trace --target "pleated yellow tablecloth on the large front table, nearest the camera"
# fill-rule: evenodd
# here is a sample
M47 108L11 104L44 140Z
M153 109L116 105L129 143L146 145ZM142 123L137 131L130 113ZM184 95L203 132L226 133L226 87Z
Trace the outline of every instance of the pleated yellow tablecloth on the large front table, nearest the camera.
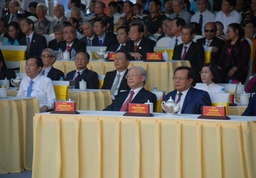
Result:
M256 177L256 118L34 116L33 178Z

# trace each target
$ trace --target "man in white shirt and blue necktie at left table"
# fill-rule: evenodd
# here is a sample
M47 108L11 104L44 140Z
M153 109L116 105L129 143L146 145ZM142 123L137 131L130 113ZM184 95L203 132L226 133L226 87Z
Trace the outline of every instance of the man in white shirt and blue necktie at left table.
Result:
M43 62L40 57L31 56L26 61L27 77L21 80L17 97L35 97L40 112L53 109L56 101L52 80L40 74Z

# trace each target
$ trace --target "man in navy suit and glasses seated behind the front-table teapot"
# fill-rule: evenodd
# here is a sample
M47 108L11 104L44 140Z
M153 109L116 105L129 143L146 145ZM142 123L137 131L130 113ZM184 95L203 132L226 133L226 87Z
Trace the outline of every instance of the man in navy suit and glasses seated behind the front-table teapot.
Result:
M169 92L165 100L170 97L179 103L179 114L201 114L202 106L212 104L208 92L192 87L195 71L187 66L176 68L172 77L175 90Z

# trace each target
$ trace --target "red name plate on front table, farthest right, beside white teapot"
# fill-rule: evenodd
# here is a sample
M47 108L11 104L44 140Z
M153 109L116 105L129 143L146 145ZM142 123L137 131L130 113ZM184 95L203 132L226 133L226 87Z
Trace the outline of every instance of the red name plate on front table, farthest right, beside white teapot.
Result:
M202 106L202 115L197 118L230 120L230 118L226 116L225 106Z

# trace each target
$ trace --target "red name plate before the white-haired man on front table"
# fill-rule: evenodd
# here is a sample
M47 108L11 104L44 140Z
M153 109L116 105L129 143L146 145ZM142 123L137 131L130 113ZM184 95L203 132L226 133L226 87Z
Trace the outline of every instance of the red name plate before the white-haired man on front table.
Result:
M127 112L124 113L125 116L145 116L152 117L153 114L150 113L149 104L135 104L129 103L127 107Z

